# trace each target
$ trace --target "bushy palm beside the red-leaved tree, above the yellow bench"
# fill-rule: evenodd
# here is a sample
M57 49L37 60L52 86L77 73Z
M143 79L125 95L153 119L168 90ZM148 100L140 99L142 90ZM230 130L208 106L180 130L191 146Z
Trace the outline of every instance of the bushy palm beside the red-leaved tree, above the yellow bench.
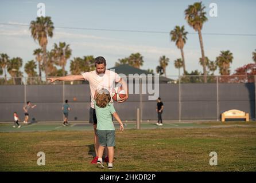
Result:
M220 55L216 57L215 62L221 75L230 75L230 63L232 63L233 58L233 54L229 50L220 51Z

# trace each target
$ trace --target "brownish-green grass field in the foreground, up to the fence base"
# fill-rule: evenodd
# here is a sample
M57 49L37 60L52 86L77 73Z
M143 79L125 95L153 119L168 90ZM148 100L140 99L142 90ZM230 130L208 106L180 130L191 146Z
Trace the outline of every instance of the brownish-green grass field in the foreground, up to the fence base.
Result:
M0 124L0 171L109 171L90 164L92 126L11 125ZM143 124L141 130L134 126L116 132L111 171L256 170L255 122L169 123L161 128ZM45 153L45 166L37 165L38 152ZM218 166L209 165L210 152L218 153Z

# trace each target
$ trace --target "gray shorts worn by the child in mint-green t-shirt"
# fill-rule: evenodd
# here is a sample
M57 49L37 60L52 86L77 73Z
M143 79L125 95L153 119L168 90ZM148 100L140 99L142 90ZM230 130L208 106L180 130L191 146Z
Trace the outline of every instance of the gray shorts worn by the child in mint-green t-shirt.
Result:
M99 145L104 147L115 146L115 130L96 130L99 138Z

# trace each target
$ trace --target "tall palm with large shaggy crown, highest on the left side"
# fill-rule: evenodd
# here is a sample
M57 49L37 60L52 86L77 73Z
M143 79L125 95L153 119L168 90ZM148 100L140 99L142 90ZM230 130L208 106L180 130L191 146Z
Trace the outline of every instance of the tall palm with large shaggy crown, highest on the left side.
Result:
M45 67L45 76L48 77L48 67L47 67L47 51L46 46L48 43L47 37L53 36L53 22L51 17L37 17L36 21L30 22L31 35L35 41L38 41L39 45L42 47L43 51L43 63Z

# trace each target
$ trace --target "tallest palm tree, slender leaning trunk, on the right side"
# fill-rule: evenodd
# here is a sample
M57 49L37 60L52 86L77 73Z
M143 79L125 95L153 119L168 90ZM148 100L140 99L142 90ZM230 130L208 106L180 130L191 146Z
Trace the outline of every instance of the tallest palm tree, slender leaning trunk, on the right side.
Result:
M206 12L204 11L204 9L205 6L202 5L202 2L195 2L193 3L193 5L189 5L188 9L185 10L185 19L187 19L188 25L193 27L193 29L198 32L204 70L204 82L207 82L204 46L201 34L201 30L203 29L203 23L207 21L207 17L205 16Z

